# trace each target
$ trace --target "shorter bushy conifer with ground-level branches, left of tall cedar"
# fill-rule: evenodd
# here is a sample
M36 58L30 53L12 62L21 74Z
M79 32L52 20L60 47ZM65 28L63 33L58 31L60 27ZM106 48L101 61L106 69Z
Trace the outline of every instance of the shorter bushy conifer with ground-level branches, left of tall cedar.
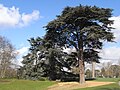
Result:
M40 37L28 40L31 47L29 53L23 57L23 67L18 70L18 75L25 79L39 79L47 77L49 80L62 79L64 68L71 69L72 59L57 46L52 45ZM23 72L22 72L23 71Z

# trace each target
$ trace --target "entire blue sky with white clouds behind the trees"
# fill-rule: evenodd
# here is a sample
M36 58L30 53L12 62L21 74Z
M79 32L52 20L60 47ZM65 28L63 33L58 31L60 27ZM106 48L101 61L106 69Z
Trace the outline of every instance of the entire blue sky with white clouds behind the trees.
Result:
M26 54L31 37L44 36L45 26L66 6L96 5L112 8L116 43L104 43L102 61L120 59L119 0L0 0L0 35L7 37L19 52L18 62Z

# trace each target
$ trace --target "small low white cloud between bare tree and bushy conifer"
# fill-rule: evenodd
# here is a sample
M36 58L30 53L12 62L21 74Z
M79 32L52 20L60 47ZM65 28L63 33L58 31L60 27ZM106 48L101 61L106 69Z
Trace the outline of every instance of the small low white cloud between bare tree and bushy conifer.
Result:
M28 53L28 49L29 47L22 47L19 50L17 50L18 52L17 64L18 65L22 65L21 63L21 61L23 60L22 57Z

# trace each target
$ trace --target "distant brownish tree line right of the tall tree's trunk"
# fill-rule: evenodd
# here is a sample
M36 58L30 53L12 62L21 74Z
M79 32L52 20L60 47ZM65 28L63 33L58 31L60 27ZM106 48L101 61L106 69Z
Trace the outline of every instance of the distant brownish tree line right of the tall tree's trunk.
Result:
M92 70L86 69L86 78L92 78ZM111 62L104 62L102 67L95 69L96 78L120 78L120 65L112 64Z

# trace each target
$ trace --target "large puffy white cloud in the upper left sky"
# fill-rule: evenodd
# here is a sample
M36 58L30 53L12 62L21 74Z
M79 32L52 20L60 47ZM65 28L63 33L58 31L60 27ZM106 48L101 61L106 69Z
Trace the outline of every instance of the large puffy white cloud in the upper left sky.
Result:
M1 27L16 27L25 26L30 22L38 20L40 13L34 10L30 14L20 13L19 8L12 6L11 8L5 7L0 4L0 26Z

